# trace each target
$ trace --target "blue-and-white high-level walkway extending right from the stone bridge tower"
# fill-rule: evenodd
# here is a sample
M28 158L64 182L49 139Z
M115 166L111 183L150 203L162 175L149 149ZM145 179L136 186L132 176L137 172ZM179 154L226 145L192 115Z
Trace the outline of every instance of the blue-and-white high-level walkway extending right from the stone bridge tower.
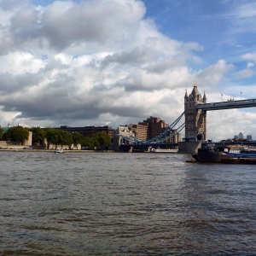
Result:
M212 102L206 104L196 105L196 109L203 110L220 110L220 109L229 109L229 108L252 108L256 107L256 99L248 99L241 101L230 100L227 102Z

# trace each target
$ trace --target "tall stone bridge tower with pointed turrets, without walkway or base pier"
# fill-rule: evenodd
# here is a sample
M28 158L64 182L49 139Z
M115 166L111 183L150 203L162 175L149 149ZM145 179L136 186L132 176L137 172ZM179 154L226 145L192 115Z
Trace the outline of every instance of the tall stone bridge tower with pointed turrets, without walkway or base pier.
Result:
M192 92L184 96L184 115L185 115L185 141L207 140L207 111L196 109L197 104L207 103L207 96L201 97L194 84Z

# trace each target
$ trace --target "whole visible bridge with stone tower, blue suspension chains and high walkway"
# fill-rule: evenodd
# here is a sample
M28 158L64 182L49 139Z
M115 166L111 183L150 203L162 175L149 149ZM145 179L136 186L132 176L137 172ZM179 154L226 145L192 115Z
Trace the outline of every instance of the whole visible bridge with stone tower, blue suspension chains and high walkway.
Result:
M230 109L230 108L252 108L256 107L256 99L247 100L228 100L227 102L212 102L207 103L207 96L201 96L197 89L197 84L194 84L192 92L188 95L187 90L184 96L184 112L170 125L165 131L160 132L155 137L148 139L147 141L141 141L131 135L125 137L122 134L118 134L119 142L122 140L122 148L130 146L145 147L145 146L171 146L177 145L180 152L194 153L197 148L201 146L201 142L207 141L207 111ZM185 121L183 125L178 128L174 128L175 125L183 117ZM185 128L185 137L183 143L170 143L170 139L174 137L178 132ZM125 142L125 143L124 143Z

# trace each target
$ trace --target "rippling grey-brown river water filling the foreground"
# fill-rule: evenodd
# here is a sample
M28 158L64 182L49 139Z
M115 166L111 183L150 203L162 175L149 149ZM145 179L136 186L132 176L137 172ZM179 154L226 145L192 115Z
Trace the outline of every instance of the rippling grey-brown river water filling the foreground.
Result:
M0 153L0 255L256 255L255 166Z

